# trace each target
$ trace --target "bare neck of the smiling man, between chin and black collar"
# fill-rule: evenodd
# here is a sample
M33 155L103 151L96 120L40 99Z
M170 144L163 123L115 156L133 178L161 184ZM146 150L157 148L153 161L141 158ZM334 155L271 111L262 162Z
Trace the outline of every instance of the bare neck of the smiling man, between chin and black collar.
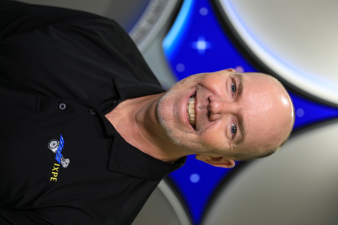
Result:
M131 145L164 162L184 156L167 138L156 116L156 104L165 93L121 102L105 117Z

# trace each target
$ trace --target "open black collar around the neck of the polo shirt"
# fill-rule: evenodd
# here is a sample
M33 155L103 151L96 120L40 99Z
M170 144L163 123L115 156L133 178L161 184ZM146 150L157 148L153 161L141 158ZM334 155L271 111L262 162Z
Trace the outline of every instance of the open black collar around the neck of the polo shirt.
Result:
M119 77L114 78L114 84L118 95L118 102L166 91L160 86L157 80L156 82L149 83L149 81L140 82ZM178 159L173 164L168 164L153 158L126 142L104 116L106 113L113 110L118 102L105 110L100 110L103 114L101 114L101 117L104 121L107 135L114 136L108 170L145 179L162 179L168 173L183 166L186 157Z

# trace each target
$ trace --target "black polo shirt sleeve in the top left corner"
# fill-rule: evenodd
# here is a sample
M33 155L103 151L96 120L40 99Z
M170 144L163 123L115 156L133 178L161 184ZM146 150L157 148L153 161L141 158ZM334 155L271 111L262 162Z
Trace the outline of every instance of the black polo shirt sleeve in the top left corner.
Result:
M78 10L0 0L0 40L48 25L99 17Z

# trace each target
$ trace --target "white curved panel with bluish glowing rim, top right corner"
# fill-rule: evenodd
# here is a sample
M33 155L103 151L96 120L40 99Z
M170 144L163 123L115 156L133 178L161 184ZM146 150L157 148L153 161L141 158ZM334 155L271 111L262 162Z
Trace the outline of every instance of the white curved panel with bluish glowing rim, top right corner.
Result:
M244 43L272 71L338 104L338 1L219 2Z

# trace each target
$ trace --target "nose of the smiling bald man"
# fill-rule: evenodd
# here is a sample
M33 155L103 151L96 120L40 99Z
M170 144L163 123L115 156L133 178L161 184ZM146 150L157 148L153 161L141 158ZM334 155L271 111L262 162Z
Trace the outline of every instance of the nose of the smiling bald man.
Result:
M239 106L232 100L210 96L208 110L209 118L211 120L217 120L222 116L236 114L239 111Z

